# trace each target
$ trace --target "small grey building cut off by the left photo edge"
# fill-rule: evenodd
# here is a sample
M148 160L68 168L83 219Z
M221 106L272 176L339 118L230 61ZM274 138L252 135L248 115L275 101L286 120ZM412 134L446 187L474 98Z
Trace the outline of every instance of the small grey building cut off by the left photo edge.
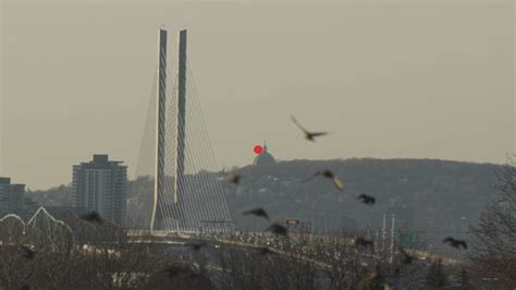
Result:
M10 178L0 178L0 214L24 214L25 184L12 184Z

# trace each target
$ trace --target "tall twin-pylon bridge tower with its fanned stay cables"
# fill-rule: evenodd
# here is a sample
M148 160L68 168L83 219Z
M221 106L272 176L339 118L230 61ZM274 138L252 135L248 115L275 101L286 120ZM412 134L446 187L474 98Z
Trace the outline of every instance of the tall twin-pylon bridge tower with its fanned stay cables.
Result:
M136 168L136 177L153 182L153 192L142 193L142 212L127 217L151 232L230 231L233 222L216 174L186 37L186 31L180 31L175 49L169 49L169 33L159 31L157 70Z

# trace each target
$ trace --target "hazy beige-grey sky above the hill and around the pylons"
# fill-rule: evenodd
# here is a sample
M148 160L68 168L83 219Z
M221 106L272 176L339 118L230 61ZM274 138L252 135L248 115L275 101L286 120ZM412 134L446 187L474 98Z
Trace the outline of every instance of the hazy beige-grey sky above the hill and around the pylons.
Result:
M188 29L220 167L262 140L283 160L514 150L514 1L63 2L1 5L0 174L30 189L94 153L134 172L161 24ZM334 133L304 142L291 113Z

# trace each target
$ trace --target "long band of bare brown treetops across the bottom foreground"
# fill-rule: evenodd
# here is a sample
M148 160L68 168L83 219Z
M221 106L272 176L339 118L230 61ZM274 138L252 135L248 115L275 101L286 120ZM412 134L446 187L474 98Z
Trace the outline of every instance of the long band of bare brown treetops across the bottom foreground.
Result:
M356 238L357 232L348 232ZM343 237L341 237L343 238ZM344 237L345 238L345 237ZM303 238L269 237L259 249L205 244L169 251L126 239L94 244L33 244L0 235L2 289L435 289L470 288L462 267L414 259L396 250L391 259L373 249ZM328 244L329 243L329 244ZM309 250L305 250L306 245ZM324 251L322 251L324 250ZM330 258L328 254L330 253ZM339 253L339 255L336 255ZM310 258L306 258L309 256ZM462 276L460 276L462 275ZM462 277L465 279L462 279Z

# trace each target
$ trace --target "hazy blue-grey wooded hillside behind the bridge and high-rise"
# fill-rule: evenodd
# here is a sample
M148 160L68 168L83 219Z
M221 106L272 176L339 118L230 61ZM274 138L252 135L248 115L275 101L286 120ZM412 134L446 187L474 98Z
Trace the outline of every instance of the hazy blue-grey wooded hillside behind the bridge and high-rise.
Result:
M330 180L314 172L329 169L344 182L339 191ZM232 172L239 184L229 183L230 172L213 172L222 183L233 220L238 229L260 230L260 220L241 213L263 207L274 219L299 219L315 231L337 231L360 227L380 230L383 215L388 223L396 216L395 229L414 232L439 244L444 234L468 238L480 212L496 196L494 184L501 166L435 159L292 160L271 166L247 166ZM207 172L201 172L207 173ZM142 220L150 214L152 180L130 181L128 216ZM29 192L42 205L67 205L70 186ZM359 193L376 197L376 204L356 201ZM137 215L136 215L137 214ZM133 215L133 216L132 216Z

